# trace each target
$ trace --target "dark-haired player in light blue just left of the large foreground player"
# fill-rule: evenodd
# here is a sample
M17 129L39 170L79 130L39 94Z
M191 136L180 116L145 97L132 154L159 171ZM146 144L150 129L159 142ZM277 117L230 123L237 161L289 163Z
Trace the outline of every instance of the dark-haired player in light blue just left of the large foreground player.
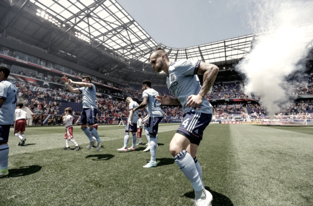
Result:
M136 110L145 107L148 105L149 110L149 136L150 136L150 154L151 154L151 160L150 162L143 166L145 168L150 167L156 167L158 165L156 153L157 153L157 144L158 144L158 129L159 129L159 123L162 121L163 115L160 107L160 103L155 99L155 96L158 96L158 91L155 91L151 88L151 81L145 80L142 83L142 97L143 101L142 103L133 109L135 112ZM148 145L149 146L149 145Z

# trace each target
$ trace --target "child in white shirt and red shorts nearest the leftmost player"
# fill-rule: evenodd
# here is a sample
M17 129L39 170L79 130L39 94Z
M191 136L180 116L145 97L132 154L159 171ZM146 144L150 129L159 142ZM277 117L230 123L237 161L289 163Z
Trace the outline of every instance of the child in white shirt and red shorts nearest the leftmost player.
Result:
M28 120L27 112L23 111L24 104L17 103L15 112L14 112L14 135L17 136L21 141L17 144L17 146L23 146L25 144L25 127L26 127L26 120ZM21 132L19 134L18 132Z

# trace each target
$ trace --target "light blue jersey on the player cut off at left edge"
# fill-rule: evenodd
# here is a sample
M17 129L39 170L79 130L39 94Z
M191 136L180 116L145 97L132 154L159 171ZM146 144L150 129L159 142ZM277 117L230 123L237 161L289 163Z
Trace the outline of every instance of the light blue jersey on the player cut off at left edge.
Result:
M14 122L17 101L17 88L8 80L0 82L0 98L4 99L0 108L0 125L10 125Z

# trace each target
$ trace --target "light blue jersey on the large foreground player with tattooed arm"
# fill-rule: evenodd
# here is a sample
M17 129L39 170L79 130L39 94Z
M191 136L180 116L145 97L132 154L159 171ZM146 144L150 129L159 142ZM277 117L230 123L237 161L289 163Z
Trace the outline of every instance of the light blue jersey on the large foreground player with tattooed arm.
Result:
M197 112L212 113L212 105L206 98L198 108L186 107L187 98L190 95L198 95L201 89L197 75L200 63L201 61L181 59L171 63L168 67L167 88L178 98L184 113L193 109Z

